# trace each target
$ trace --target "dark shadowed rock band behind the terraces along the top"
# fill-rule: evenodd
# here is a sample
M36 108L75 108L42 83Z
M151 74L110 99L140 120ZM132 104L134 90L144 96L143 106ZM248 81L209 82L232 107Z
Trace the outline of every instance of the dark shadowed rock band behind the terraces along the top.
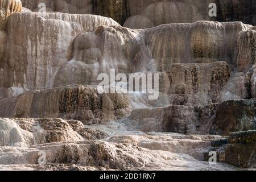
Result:
M255 1L222 0L21 0L32 11L46 5L47 11L108 16L130 28L148 28L166 23L191 23L197 20L241 21L256 25ZM210 16L216 5L216 16Z

